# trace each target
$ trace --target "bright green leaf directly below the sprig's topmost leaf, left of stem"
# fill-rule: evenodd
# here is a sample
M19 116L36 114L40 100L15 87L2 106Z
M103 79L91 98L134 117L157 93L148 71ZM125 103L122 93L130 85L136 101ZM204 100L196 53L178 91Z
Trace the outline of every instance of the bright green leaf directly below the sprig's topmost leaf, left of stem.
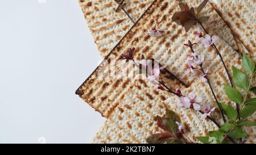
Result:
M249 87L249 82L246 75L233 66L233 81L241 89L247 90Z

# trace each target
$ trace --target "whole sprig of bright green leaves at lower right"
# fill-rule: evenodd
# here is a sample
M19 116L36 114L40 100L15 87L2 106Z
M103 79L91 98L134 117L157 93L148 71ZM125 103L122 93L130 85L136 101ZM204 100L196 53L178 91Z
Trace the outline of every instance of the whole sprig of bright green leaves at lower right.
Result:
M245 91L246 95L242 97L240 91L235 87L224 85L226 95L240 107L240 110L237 111L232 106L220 103L224 114L229 120L222 124L218 131L210 131L209 137L197 137L202 143L230 143L230 139L236 140L247 136L242 126L256 126L256 122L246 120L256 111L256 98L247 99L247 94L250 91L256 91L255 87L251 87L251 82L255 80L255 63L249 56L243 55L242 67L249 76L246 76L247 74L243 73L242 70L233 66L233 82L237 87Z

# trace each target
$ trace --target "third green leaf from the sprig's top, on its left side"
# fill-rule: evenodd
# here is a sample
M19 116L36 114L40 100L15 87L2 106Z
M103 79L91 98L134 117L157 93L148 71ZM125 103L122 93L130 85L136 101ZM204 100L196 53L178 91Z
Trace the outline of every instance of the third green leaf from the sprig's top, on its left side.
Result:
M242 103L242 95L238 90L226 84L224 84L224 88L225 88L226 95L228 95L230 100L238 104Z

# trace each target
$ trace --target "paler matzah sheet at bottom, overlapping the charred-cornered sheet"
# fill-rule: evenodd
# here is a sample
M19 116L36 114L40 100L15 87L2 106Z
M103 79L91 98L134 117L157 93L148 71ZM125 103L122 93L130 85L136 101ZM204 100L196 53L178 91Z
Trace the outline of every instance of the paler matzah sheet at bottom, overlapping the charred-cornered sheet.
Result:
M137 89L137 87L141 87L141 89ZM190 89L201 96L201 91L205 91L202 96L204 100L210 95L209 89L206 89L203 82L195 82L191 88L184 91L191 91ZM148 98L144 93L151 94L152 98ZM224 92L221 91L220 93ZM196 140L197 136L208 136L208 131L218 129L210 120L201 119L200 112L195 112L190 108L176 107L175 102L177 100L175 95L155 90L150 83L148 83L148 87L144 87L142 83L136 81L133 89L130 89L129 93L127 92L125 97L120 100L120 104L100 128L92 143L146 143L148 136L163 132L157 126L155 116L163 116L166 108L180 116L181 123L185 127L185 134L194 143L199 143ZM215 118L220 115L219 112L213 114ZM255 127L246 127L246 132L251 135L246 137L246 143L256 143Z

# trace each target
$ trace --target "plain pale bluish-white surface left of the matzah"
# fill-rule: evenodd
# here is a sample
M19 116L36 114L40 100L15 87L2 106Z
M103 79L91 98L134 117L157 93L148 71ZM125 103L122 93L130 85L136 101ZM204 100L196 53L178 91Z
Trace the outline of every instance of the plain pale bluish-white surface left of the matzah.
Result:
M101 57L77 0L0 0L0 20L0 143L90 143L105 119L75 90Z

